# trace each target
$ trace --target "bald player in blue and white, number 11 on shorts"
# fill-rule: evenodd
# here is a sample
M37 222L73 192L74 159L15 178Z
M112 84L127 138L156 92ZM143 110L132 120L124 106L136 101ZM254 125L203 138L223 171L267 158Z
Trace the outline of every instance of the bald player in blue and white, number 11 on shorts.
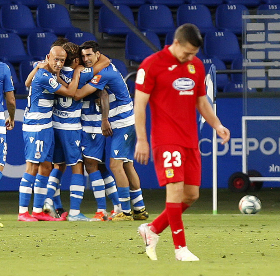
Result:
M21 178L19 188L19 221L65 220L65 218L53 218L43 212L54 152L52 124L54 94L73 97L78 87L80 72L84 68L78 66L74 71L72 82L68 87L63 86L58 83L57 75L65 59L66 52L61 46L52 47L45 63L36 72L30 85L22 124L26 171ZM33 186L34 203L30 215L28 206Z

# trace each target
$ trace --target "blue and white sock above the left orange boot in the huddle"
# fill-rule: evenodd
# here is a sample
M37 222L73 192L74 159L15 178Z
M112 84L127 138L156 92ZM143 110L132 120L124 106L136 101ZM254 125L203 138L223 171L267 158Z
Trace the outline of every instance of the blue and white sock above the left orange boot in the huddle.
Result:
M100 171L89 174L93 195L97 202L97 209L106 210L105 183Z

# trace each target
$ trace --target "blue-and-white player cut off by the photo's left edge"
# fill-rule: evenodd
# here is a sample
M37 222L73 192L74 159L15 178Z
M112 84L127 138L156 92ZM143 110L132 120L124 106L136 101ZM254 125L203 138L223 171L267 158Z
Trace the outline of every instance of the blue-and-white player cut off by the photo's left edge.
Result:
M16 99L11 71L7 64L0 62L0 180L6 164L7 142L6 130L12 130L15 126ZM5 119L3 101L6 101L9 117ZM0 227L3 224L0 223Z

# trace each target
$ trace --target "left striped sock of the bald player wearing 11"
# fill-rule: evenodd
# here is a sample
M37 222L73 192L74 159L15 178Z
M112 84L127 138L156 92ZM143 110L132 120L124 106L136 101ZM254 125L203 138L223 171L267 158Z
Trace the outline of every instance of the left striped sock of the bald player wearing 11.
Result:
M19 205L20 205L20 209L21 207L24 207L25 212L28 211L28 206L32 195L32 186L34 182L35 182L35 176L29 173L23 174L19 187ZM22 213L25 212L22 211Z

